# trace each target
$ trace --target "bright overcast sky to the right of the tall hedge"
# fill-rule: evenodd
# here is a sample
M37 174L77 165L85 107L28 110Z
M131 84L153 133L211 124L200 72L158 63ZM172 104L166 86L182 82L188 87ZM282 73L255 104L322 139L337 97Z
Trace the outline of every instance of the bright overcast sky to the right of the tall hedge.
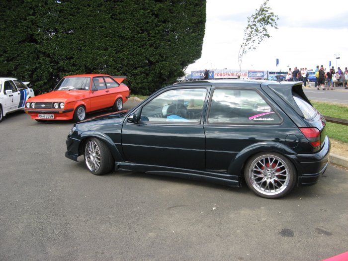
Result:
M207 0L202 56L186 72L239 69L238 52L247 16L254 14L263 2ZM309 70L317 65L329 68L329 61L335 69L348 67L346 2L339 5L330 0L269 0L267 5L279 17L278 29L268 28L271 37L243 56L242 70L287 71L295 66Z

